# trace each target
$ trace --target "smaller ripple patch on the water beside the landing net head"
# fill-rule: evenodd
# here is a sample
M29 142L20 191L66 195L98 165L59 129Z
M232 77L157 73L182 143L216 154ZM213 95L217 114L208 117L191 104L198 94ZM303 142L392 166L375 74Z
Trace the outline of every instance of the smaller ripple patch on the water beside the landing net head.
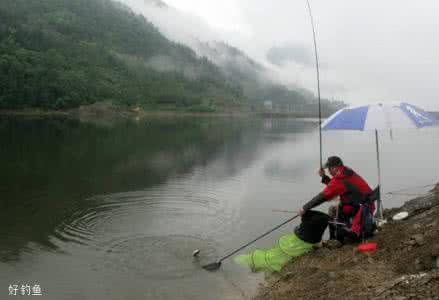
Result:
M214 260L216 244L187 235L131 236L110 241L104 249L102 268L154 280L184 278ZM192 251L200 249L203 261Z

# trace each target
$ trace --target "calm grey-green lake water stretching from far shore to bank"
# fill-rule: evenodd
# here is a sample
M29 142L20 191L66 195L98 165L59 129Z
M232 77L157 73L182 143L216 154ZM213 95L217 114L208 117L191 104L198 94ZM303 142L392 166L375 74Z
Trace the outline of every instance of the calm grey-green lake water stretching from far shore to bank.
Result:
M380 135L384 193L439 181L437 129ZM192 251L214 261L322 188L315 120L1 117L0 138L1 299L14 284L40 285L43 299L250 297L261 275L232 260L206 272ZM376 185L374 142L325 132L324 152Z

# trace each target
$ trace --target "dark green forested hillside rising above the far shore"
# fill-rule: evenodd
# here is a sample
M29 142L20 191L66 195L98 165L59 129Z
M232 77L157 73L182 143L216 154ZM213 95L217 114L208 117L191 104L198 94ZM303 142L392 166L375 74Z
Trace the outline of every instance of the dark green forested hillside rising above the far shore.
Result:
M144 17L109 0L0 2L0 108L97 101L210 110L242 89Z

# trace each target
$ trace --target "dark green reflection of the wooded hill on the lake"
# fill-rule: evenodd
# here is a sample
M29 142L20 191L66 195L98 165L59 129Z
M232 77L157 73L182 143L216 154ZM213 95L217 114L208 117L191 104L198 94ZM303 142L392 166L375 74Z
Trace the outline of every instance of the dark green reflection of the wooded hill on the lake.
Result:
M17 256L28 241L53 246L48 237L54 229L90 209L93 201L84 199L146 189L188 173L224 151L225 140L228 147L242 143L242 130L240 122L215 119L111 128L60 119L2 120L0 232L16 244L2 243L1 259Z

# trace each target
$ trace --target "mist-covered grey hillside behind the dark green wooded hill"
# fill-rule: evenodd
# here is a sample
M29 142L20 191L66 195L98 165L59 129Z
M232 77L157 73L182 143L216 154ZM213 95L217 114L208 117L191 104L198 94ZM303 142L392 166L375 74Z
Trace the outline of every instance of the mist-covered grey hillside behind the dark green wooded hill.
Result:
M155 20L159 29L161 28L169 38L185 43L200 57L207 57L217 65L229 82L239 85L243 95L250 99L251 103L261 107L264 102L268 101L273 104L273 109L276 111L316 113L317 102L313 93L304 88L286 87L275 82L270 75L270 70L250 58L242 50L223 41L214 40L215 37L211 34L208 37L197 34L197 28L186 27L188 23L192 23L192 16L186 15L161 0L144 0L143 7L135 0L120 1L129 3L133 9L142 11L148 18ZM198 22L202 21L198 20ZM199 26L201 23L196 24ZM182 27L185 30L182 30ZM310 63L313 64L312 56ZM323 100L322 104L326 114L344 105L342 102L327 100Z

